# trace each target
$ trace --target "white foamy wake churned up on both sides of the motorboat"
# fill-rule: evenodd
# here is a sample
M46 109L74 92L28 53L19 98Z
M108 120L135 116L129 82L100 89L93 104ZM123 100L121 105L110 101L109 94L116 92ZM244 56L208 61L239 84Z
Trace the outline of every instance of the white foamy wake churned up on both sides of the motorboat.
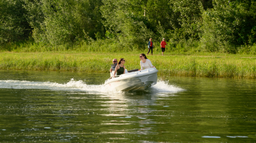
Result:
M46 89L54 91L80 91L91 94L96 93L122 93L115 91L114 88L101 85L90 85L82 80L71 79L69 82L61 84L56 82L37 82L26 80L0 80L0 89ZM169 85L167 81L158 81L156 85L148 88L150 92L179 92L180 88L176 88L173 85Z

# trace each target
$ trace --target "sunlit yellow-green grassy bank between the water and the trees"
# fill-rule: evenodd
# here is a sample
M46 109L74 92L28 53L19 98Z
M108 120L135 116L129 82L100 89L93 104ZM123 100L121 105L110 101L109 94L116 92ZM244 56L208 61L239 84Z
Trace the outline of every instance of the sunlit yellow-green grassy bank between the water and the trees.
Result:
M138 69L139 52L78 51L0 52L0 69L109 72L112 59L124 58L128 70ZM256 78L256 56L225 53L167 53L148 55L162 76Z

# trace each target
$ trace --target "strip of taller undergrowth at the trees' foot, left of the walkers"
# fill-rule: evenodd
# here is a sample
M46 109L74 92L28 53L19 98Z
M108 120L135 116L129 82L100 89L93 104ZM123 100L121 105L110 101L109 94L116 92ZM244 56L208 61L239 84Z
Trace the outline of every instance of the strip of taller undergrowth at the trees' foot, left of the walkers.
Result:
M47 51L88 51L88 52L127 52L138 51L146 49L147 45L139 46L134 43L123 44L116 42L116 40L89 40L80 41L72 44L62 45L42 45L33 41L6 43L0 45L0 51L14 51L14 52L47 52Z

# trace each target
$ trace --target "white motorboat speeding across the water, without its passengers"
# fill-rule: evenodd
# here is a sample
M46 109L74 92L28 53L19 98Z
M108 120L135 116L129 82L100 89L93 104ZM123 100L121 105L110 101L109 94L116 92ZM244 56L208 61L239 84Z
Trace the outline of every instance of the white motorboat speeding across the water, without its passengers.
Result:
M156 68L131 71L125 69L125 74L114 77L114 71L112 71L111 77L105 80L104 85L115 88L117 91L144 91L157 83L157 72Z

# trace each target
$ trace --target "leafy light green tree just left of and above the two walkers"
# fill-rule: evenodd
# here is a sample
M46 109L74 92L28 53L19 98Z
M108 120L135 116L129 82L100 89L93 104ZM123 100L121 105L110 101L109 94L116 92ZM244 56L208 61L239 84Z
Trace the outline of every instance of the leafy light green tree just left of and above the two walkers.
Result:
M104 0L101 6L104 26L114 34L123 45L139 45L143 48L145 42L153 36L147 27L148 19L144 16L147 1Z

